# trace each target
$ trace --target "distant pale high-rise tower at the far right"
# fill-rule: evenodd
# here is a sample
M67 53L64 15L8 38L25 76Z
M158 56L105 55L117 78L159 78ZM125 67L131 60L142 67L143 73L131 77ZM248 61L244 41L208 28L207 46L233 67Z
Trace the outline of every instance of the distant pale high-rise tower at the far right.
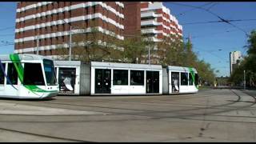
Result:
M241 51L230 52L230 75L234 69L238 66L239 62L242 60Z

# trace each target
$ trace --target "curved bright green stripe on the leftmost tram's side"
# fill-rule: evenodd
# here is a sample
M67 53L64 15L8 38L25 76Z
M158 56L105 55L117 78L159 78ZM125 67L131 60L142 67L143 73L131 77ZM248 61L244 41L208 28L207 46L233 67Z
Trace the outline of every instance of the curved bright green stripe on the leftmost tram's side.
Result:
M19 80L24 83L24 68L22 66L21 60L18 57L18 54L10 54L10 60L14 63L14 67L16 71L18 72L18 78ZM57 90L42 90L38 86L35 85L23 85L26 87L26 89L32 91L32 92L38 92L38 93L50 93L50 92L56 92Z

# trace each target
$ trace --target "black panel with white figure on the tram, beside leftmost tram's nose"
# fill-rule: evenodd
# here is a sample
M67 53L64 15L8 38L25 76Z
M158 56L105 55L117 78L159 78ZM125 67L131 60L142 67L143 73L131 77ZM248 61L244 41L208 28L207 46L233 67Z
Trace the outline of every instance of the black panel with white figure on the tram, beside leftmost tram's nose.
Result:
M59 68L59 92L63 94L74 94L75 77L75 68Z

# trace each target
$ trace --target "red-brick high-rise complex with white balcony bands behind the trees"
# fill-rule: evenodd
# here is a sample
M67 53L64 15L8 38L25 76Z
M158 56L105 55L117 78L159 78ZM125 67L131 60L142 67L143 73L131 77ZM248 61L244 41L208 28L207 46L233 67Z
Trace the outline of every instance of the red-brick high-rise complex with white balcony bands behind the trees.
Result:
M70 26L72 38L92 27L120 41L142 33L155 51L163 38L182 40L182 26L162 2L18 2L14 53L58 55L59 47L69 48ZM158 63L154 50L150 62Z

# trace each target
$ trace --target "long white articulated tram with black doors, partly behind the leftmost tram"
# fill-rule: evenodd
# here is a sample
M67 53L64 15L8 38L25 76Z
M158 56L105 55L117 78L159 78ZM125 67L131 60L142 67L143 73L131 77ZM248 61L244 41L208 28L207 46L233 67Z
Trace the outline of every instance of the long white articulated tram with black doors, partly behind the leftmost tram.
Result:
M59 94L156 95L198 92L194 68L80 61L54 61Z

